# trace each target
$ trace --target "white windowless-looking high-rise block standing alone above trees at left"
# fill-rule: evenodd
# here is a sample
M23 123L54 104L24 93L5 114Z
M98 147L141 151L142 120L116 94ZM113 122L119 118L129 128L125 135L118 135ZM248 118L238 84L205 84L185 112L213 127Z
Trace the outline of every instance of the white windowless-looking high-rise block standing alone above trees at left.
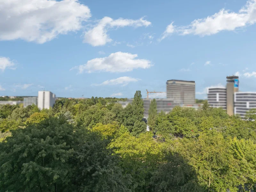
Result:
M52 108L55 103L56 97L50 91L39 91L37 106L39 109L49 109Z

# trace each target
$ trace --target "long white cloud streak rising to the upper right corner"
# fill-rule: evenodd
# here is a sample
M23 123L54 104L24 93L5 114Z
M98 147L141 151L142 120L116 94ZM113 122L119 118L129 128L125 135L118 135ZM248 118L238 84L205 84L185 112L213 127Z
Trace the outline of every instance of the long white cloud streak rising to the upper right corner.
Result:
M213 35L220 31L234 31L256 22L256 0L247 1L239 12L230 12L221 9L219 12L204 19L196 19L187 26L173 26L173 22L167 26L160 40L172 35L174 32L179 35Z

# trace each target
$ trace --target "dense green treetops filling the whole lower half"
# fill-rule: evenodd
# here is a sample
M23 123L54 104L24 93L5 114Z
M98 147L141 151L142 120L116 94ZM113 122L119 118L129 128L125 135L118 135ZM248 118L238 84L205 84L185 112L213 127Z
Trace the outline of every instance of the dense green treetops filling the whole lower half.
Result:
M140 91L126 108L117 100L0 105L0 192L255 192L255 110L157 114L152 100L145 120Z

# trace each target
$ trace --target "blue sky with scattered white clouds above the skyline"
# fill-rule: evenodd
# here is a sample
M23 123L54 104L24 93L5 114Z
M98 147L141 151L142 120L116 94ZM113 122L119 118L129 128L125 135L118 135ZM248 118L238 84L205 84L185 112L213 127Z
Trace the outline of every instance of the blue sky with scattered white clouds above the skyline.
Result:
M145 98L178 79L205 99L233 74L256 92L255 34L256 0L0 0L0 95Z

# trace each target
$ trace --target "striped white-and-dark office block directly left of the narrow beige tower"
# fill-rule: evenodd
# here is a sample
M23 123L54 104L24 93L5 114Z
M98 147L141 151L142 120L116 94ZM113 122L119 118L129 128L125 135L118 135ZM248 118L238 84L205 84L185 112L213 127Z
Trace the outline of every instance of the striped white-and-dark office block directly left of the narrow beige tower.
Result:
M207 88L207 100L210 107L227 109L227 90L224 87Z

